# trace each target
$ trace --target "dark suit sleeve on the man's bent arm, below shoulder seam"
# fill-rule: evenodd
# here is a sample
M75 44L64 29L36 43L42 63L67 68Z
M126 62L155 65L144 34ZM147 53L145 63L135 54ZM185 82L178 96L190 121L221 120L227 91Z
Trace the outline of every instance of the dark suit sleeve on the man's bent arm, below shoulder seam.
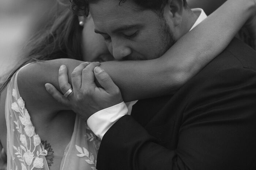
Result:
M256 72L229 68L191 84L194 95L184 106L175 150L125 115L104 135L97 169L255 169Z

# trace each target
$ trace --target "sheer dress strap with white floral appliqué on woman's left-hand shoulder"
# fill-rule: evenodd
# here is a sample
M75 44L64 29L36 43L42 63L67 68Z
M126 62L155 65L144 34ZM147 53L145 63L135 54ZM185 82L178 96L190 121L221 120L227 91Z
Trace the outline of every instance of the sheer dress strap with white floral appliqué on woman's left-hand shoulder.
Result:
M35 133L25 102L19 94L17 76L20 68L7 86L5 119L7 124L7 169L49 170L45 156L47 151Z

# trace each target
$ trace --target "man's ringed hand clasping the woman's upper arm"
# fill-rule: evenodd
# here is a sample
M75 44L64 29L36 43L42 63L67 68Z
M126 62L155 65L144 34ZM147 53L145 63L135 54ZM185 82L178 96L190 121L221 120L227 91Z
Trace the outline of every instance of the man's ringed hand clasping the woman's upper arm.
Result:
M87 120L95 112L123 102L119 88L99 65L99 62L86 62L74 69L71 76L73 92L67 98L63 94L71 85L68 83L65 66L59 70L59 86L63 94L49 83L45 84L46 90L58 102ZM102 88L96 86L94 76Z

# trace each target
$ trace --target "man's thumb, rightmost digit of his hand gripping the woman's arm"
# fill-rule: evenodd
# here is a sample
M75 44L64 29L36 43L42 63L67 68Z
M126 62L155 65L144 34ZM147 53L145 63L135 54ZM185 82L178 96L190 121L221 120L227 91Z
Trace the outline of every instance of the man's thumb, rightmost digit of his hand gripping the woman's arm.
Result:
M109 74L103 70L101 67L94 68L94 74L99 84L104 88L108 93L113 93L119 90L113 80L110 78Z

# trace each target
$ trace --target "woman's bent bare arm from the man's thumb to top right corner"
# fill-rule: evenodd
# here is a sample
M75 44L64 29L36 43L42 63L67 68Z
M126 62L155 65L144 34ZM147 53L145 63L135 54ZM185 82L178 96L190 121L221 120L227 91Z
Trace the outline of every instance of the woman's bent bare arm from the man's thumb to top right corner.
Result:
M228 0L162 57L106 62L101 67L120 88L125 101L173 94L227 47L254 8L253 1Z

